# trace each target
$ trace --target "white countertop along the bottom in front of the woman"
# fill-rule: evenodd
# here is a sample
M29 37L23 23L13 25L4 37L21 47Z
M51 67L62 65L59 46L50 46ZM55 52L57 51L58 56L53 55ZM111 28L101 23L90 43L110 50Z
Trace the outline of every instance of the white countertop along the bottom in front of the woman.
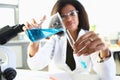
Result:
M17 76L14 80L50 80L49 77L54 76L59 80L99 80L96 75L76 75L71 77L67 73L49 73L46 71L31 71L17 69ZM115 80L120 80L120 77L116 77Z

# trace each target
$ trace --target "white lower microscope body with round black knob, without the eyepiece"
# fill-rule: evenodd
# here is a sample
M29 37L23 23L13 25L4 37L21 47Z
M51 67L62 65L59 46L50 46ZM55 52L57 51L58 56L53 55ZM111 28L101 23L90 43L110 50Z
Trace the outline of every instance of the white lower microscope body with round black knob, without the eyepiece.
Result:
M15 53L5 46L0 46L0 80L13 80L17 74L15 68Z

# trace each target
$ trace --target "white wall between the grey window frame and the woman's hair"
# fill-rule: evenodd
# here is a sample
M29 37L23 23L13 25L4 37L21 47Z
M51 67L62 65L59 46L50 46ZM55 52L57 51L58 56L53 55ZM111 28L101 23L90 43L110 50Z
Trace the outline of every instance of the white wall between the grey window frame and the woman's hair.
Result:
M51 9L56 0L19 0L19 21L24 23L32 18L40 20L43 15L50 15Z

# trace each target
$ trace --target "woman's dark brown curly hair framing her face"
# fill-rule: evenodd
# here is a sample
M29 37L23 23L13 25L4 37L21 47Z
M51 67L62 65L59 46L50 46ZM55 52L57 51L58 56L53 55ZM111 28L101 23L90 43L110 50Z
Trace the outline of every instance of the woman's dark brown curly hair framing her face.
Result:
M61 14L61 10L64 6L67 4L70 4L78 10L78 17L79 17L79 25L78 25L78 32L81 29L89 30L89 21L88 21L88 15L86 13L85 8L83 5L77 1L77 0L57 0L55 5L53 6L53 9L51 11L51 15L54 15L55 13L59 12Z

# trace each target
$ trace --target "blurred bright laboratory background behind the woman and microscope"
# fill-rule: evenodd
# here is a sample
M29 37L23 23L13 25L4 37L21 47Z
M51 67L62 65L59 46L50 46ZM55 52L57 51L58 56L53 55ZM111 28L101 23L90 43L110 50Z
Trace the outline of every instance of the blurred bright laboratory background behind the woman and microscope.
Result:
M0 28L23 24L35 18L39 21L43 15L50 16L57 0L0 0ZM120 5L119 0L79 0L88 12L91 29L111 43L114 52L117 75L120 76ZM43 44L45 41L43 41ZM4 46L14 51L17 68L29 69L27 66L27 46L29 39L24 32L8 41ZM44 70L47 70L44 69Z

